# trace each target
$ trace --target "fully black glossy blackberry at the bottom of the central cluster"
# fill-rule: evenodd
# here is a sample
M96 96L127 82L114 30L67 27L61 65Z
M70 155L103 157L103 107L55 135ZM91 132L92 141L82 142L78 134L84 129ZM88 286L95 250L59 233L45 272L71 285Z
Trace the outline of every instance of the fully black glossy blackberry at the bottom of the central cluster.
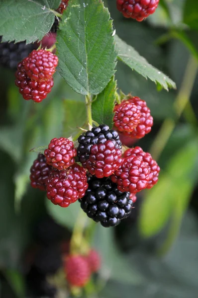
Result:
M87 216L105 227L120 224L131 213L133 205L129 192L121 192L110 178L88 177L86 195L79 199Z

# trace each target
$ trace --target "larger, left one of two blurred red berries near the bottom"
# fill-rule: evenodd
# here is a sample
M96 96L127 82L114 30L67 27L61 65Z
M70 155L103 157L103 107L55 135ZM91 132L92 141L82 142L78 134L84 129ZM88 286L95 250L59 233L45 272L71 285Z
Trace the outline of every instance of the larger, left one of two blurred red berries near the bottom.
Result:
M69 255L65 260L64 270L70 286L84 287L91 277L88 261L81 255Z

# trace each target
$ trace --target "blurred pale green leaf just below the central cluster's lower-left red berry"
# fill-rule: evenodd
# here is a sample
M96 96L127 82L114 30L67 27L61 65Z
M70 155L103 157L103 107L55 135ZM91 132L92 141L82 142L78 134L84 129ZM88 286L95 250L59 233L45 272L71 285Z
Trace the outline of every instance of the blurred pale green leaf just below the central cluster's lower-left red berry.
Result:
M49 214L58 224L62 224L71 230L73 229L80 210L79 202L75 202L70 204L69 207L63 208L54 205L50 200L46 199L46 207Z

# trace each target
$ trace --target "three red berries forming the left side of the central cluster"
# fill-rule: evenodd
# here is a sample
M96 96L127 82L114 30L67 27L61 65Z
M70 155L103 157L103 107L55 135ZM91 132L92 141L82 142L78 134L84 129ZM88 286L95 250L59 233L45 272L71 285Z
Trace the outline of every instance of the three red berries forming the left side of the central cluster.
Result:
M77 150L66 138L54 138L30 169L31 186L47 191L55 205L68 207L85 195L88 188L85 169L75 163Z

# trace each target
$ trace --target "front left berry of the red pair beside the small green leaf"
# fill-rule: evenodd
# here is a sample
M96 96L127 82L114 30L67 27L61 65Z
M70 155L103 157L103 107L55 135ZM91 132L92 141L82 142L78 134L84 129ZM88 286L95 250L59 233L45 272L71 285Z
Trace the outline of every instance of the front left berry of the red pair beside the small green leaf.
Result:
M114 112L114 126L120 132L132 132L140 121L140 110L134 103L128 100L123 100L120 104L116 104Z

